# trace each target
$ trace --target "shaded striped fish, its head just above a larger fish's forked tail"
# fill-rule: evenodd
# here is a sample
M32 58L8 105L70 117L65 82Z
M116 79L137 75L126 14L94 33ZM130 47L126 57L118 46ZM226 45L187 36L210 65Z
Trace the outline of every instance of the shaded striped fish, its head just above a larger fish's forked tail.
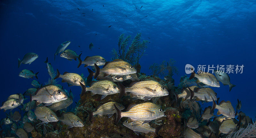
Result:
M108 115L108 118L110 118L114 113L116 113L114 104L119 110L124 110L124 105L122 104L119 104L117 102L107 102L103 105L100 105L95 112L90 112L86 110L89 114L89 119L92 120L92 117L94 115L98 115L99 117L101 117L102 115Z

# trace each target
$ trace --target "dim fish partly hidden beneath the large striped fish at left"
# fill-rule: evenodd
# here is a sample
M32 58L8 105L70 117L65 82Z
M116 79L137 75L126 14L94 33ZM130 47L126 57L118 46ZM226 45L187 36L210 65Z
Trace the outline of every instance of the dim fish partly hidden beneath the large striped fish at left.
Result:
M53 103L50 106L47 106L49 109L51 109L53 112L56 112L58 110L67 108L69 105L71 105L73 103L73 100L71 98L67 98L66 100L57 102L57 103Z

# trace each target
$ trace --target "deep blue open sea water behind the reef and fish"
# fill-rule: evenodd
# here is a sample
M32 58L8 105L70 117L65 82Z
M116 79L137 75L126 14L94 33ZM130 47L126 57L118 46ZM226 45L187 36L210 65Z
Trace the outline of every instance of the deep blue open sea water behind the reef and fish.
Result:
M151 75L150 65L172 58L180 72L180 76L173 76L175 85L179 84L181 76L186 75L186 64L195 68L198 65L244 65L242 74L229 74L230 82L236 85L230 92L222 83L220 88L211 88L217 92L220 101L229 100L234 108L237 98L241 100L241 111L255 120L254 0L4 0L0 2L0 19L2 102L10 94L24 93L33 88L33 79L18 76L22 69L39 72L40 84L48 81L46 57L60 73L67 71L87 76L86 68L77 69L77 61L70 62L59 56L54 61L56 48L64 41L71 41L67 49L77 54L82 51L82 59L101 55L110 61L110 52L118 48L120 34L133 38L141 33L142 40L150 41L146 55L139 62L141 72ZM92 50L89 49L90 43L94 45ZM18 58L22 59L28 52L39 57L30 65L22 64L18 68ZM68 88L64 84L64 88L72 88L74 101L78 101L80 87ZM212 103L203 106L209 105ZM2 110L0 116L5 116Z

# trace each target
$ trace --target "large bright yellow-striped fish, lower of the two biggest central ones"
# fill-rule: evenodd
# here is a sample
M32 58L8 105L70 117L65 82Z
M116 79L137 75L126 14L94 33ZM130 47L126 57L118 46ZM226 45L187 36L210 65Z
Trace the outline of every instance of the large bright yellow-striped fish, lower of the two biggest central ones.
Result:
M121 112L116 105L116 124L122 117L128 117L129 120L144 120L143 123L148 123L151 120L164 116L164 111L156 104L153 103L142 103L142 104L131 104L127 108L127 112Z

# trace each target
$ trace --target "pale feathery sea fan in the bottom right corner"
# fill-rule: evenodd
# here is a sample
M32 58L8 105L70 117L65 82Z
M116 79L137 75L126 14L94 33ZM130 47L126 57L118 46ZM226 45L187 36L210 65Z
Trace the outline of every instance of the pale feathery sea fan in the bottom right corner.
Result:
M240 128L237 132L231 133L227 138L255 138L256 137L256 121L253 124L248 124L244 128Z

